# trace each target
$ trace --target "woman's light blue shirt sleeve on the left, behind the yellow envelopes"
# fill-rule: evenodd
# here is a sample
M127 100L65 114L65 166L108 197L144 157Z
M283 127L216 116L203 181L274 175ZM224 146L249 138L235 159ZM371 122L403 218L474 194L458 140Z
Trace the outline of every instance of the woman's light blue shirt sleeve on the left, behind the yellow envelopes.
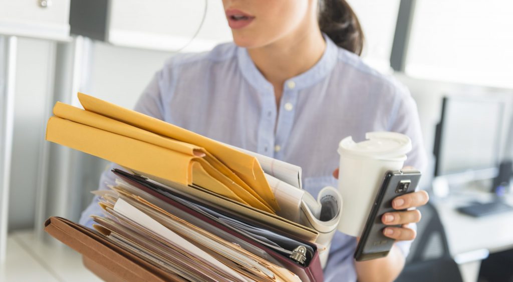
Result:
M163 106L161 99L161 91L159 87L159 77L161 76L161 72L157 72L150 84L146 87L143 94L137 101L134 110L143 114L147 114L149 116L153 116L155 118L163 119ZM107 190L109 189L109 185L115 185L115 174L111 171L114 168L121 167L114 163L111 163L110 166L102 173L100 177L100 183L98 184L98 190ZM84 225L86 227L92 228L94 224L91 215L103 216L103 210L98 205L98 196L94 196L91 204L82 212L80 220L78 223Z

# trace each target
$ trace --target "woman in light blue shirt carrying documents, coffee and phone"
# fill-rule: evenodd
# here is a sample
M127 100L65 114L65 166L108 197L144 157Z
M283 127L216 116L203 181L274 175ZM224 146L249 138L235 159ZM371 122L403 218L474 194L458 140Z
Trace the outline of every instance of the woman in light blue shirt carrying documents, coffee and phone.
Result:
M234 43L175 55L144 91L135 109L210 138L303 168L314 197L336 186L338 143L348 135L396 131L412 139L406 165L425 156L413 99L392 79L364 65L358 19L342 0L223 0ZM319 11L319 9L321 9ZM336 172L335 172L336 173ZM110 172L100 180L112 183ZM83 213L101 214L96 201ZM418 207L425 192L398 197L394 208ZM402 270L420 219L417 210L385 214L385 235L398 240L381 259L355 262L357 239L338 232L326 280L391 281Z

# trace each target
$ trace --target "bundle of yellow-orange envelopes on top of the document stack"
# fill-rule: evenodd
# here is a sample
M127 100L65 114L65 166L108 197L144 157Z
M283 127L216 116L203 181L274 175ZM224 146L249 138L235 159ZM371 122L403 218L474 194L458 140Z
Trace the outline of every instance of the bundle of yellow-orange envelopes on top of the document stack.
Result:
M79 98L86 110L55 105L55 116L48 121L47 140L172 182L194 184L266 212L277 210L254 157L100 99L80 93ZM88 111L86 105L96 110ZM215 155L204 145L228 155ZM248 169L239 167L244 163L253 164L250 176L245 174Z

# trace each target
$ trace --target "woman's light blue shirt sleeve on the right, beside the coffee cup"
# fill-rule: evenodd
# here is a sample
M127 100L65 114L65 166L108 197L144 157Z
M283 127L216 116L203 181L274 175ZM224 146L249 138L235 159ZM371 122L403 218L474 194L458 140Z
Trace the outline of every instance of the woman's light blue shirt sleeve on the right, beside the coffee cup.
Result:
M407 154L408 158L404 165L411 166L424 174L427 168L427 155L422 138L417 104L406 87L398 86L397 91L398 95L392 112L392 115L395 116L391 119L389 130L403 133L410 137L412 149ZM416 224L410 224L408 227L417 231ZM396 243L403 252L404 257L408 256L412 242L410 240Z

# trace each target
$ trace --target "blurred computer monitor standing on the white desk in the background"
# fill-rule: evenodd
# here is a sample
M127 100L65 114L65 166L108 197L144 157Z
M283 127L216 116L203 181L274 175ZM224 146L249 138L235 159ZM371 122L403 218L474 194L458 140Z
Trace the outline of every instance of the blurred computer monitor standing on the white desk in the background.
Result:
M435 137L435 176L495 177L504 108L505 102L492 98L444 97Z

